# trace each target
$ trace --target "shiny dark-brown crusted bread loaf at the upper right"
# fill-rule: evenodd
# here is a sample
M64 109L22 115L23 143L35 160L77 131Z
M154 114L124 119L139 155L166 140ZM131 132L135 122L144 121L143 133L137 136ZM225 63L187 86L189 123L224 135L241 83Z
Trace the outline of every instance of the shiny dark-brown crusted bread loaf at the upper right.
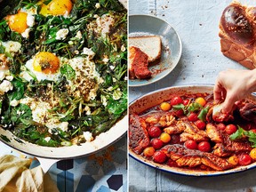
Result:
M220 18L221 52L246 68L256 68L256 7L232 3Z

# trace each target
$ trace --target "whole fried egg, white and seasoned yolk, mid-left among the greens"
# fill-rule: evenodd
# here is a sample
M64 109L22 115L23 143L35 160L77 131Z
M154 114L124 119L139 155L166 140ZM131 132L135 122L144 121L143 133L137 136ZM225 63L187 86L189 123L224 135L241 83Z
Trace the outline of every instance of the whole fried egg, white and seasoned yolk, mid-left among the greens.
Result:
M33 79L28 71L33 73L38 81L44 79L56 81L60 76L60 58L52 52L38 52L32 59L26 62L25 67L28 70L21 72L21 77L27 81Z

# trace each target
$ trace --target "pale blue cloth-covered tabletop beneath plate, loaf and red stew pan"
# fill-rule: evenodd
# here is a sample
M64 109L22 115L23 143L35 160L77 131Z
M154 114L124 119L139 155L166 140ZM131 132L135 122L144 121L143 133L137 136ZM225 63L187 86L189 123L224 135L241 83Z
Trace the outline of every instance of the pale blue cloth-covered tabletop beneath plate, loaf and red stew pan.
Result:
M244 1L246 2L246 1ZM247 1L252 4L253 1ZM221 70L245 69L220 52L219 21L231 0L129 0L129 14L154 15L180 35L180 62L162 80L130 87L129 100L160 88L183 84L214 84ZM255 1L254 1L255 5ZM152 23L152 25L154 25ZM256 169L214 177L188 177L157 171L129 157L129 191L255 191Z

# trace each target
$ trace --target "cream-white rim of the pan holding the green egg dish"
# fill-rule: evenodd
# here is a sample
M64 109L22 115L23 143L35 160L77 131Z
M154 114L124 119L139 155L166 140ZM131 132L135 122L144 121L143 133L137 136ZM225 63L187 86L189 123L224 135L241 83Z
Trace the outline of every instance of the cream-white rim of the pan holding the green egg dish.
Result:
M60 148L50 148L38 146L25 140L20 140L12 134L0 128L0 140L12 148L32 156L51 158L51 159L68 159L81 156L88 156L107 148L110 144L116 142L124 136L127 131L128 118L124 116L122 120L111 127L108 132L102 132L92 142L82 143L81 146L70 146Z

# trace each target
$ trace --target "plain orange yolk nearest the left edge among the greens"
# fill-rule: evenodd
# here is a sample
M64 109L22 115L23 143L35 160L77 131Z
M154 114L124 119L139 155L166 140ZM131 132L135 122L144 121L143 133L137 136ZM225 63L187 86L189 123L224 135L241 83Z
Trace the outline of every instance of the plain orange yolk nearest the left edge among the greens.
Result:
M21 34L28 28L27 17L27 12L18 12L14 15L7 15L5 20L7 20L8 26L12 31L16 31Z

